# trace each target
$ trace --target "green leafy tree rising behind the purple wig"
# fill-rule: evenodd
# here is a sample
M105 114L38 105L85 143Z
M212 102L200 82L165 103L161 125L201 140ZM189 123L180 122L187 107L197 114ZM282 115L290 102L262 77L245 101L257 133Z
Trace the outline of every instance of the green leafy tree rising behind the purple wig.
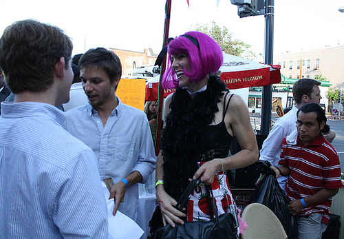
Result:
M220 48L227 54L241 56L246 59L256 58L255 53L249 50L249 48L251 47L250 45L244 43L243 41L233 39L232 33L229 32L228 28L226 28L225 26L220 28L219 25L215 23L215 21L211 21L210 28L208 24L196 24L195 27L191 30L207 34L208 36L213 38L214 41L219 44Z

